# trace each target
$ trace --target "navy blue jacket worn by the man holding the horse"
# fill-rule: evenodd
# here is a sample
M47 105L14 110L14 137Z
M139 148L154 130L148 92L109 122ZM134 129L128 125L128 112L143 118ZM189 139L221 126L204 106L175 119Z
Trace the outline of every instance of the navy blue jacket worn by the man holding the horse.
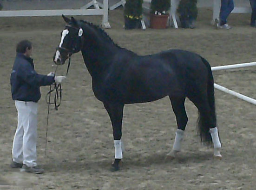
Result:
M54 76L37 74L33 59L17 53L11 74L13 100L38 102L41 98L40 86L53 84Z

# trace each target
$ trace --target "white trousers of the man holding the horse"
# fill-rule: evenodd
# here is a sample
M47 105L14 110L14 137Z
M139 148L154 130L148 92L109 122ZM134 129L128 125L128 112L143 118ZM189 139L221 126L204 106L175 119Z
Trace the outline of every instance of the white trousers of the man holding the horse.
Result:
M13 139L13 161L36 166L37 107L35 102L15 100L18 125Z

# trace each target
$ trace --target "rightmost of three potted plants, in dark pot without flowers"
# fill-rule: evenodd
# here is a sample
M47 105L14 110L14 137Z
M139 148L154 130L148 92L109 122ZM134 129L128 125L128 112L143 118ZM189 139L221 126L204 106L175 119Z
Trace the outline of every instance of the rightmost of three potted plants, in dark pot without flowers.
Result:
M182 28L195 28L197 19L197 0L181 0L177 12Z

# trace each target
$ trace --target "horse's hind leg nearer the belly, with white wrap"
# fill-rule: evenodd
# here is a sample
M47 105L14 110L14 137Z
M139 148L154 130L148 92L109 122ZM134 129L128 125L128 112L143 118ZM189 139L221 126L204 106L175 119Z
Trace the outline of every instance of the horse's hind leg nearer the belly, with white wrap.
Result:
M173 143L172 151L168 154L168 157L175 157L176 154L181 151L181 143L183 140L184 130L188 123L188 117L185 110L185 97L173 97L169 96L171 100L172 110L176 116L177 131L175 135L175 140Z

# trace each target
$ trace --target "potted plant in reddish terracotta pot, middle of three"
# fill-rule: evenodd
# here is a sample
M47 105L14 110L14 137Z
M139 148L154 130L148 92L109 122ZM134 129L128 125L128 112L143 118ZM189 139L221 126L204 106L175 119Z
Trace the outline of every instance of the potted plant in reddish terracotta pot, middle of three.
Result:
M154 29L164 29L167 25L170 0L151 0L150 26Z

